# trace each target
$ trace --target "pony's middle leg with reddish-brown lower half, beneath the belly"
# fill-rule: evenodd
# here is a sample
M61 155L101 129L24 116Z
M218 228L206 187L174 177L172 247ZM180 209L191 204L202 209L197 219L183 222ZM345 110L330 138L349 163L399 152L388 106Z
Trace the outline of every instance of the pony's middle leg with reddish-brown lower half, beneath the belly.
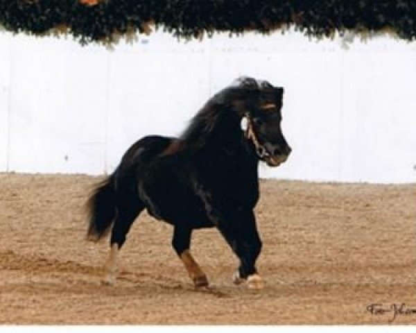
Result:
M189 277L193 281L195 287L207 287L207 275L202 271L200 266L193 259L189 252L191 244L191 230L175 226L173 231L172 246L180 257L182 263L188 271Z

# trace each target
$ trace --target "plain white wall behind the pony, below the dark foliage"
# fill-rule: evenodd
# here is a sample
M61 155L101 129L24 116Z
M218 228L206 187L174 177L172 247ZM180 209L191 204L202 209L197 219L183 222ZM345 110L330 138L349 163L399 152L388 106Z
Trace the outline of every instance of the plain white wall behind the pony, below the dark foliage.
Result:
M177 135L237 76L285 87L293 154L261 176L416 182L416 43L299 33L157 33L113 51L0 33L0 171L103 173L143 135Z

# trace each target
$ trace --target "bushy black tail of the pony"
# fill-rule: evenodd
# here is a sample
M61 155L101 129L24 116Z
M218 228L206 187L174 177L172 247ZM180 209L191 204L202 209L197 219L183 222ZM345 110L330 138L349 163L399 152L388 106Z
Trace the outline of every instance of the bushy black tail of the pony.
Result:
M116 216L115 173L99 183L87 201L87 239L99 241L105 237Z

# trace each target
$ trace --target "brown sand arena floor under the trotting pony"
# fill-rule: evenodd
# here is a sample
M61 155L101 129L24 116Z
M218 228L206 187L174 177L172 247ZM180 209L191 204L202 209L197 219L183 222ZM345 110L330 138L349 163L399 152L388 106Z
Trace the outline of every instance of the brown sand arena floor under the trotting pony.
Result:
M401 303L393 323L416 323L416 185L262 181L266 288L234 286L232 251L198 230L192 253L213 286L196 291L171 226L145 213L118 283L101 285L108 243L85 241L83 215L100 179L0 174L0 323L386 324L393 313L376 310Z

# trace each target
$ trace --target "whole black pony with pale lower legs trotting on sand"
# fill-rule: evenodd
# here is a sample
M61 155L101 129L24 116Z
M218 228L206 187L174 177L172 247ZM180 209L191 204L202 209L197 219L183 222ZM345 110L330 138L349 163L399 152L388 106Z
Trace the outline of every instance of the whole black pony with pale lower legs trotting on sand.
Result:
M189 252L191 232L211 227L240 259L234 282L263 287L255 267L257 169L259 160L277 167L291 153L280 127L283 91L239 78L209 99L180 137L148 136L128 149L88 201L88 238L101 239L112 227L107 283L115 282L119 250L146 208L173 225L173 248L196 287L208 280Z

